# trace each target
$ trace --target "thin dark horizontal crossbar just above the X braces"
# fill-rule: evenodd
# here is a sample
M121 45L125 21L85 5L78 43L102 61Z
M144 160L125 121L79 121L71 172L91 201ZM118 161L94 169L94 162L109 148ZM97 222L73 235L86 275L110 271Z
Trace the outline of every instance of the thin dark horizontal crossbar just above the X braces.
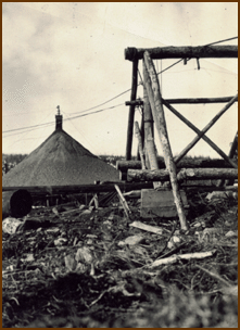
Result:
M226 97L226 98L191 98L191 99L164 99L170 104L204 104L204 103L227 103L233 97ZM238 102L238 100L236 100ZM143 101L136 100L136 101L126 101L125 105L143 105Z

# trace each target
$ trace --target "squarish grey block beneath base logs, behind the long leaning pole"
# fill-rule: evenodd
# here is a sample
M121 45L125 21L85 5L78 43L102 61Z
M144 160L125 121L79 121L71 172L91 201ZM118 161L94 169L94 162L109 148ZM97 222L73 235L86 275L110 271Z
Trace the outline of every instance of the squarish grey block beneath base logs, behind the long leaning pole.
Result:
M185 191L179 191L185 208L189 207ZM173 191L141 190L141 217L176 217L178 215ZM187 214L187 211L185 211Z

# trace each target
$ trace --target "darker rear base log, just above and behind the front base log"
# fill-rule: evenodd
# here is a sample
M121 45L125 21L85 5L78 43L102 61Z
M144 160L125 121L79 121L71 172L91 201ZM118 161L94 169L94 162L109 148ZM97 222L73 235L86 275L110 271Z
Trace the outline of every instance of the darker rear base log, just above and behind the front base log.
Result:
M165 168L165 163L163 160L157 160L159 168ZM237 164L237 161L236 161ZM177 165L177 168L232 168L232 166L224 161L224 160L181 160ZM141 169L140 161L117 161L116 169L121 172L127 172L129 168L131 169Z

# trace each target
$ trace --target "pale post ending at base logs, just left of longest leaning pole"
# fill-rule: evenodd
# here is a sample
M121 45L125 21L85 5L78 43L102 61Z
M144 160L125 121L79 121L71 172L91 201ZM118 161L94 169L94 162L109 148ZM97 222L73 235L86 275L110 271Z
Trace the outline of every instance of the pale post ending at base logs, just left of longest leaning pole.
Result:
M156 149L154 143L154 137L153 137L153 117L152 117L152 111L149 102L148 92L146 90L144 82L149 80L150 77L147 72L147 67L144 64L144 61L142 61L142 68L143 68L143 100L144 100L144 107L143 107L143 115L144 115L144 137L146 137L146 155L148 158L148 167L151 169L159 169L159 163L156 158ZM159 187L162 187L161 182L153 182L153 187L156 189Z

